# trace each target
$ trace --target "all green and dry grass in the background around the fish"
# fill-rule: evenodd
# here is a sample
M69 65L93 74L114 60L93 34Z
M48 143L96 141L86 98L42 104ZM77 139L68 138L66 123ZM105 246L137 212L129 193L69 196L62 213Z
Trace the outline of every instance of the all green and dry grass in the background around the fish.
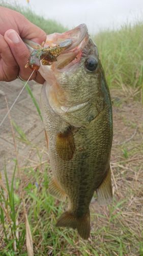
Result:
M67 29L53 20L45 20L31 9L0 3L21 12L47 34ZM25 166L22 190L34 255L143 255L142 29L143 23L137 21L134 26L126 24L117 31L92 35L112 96L115 127L111 157L113 203L99 206L95 196L91 204L91 237L83 241L76 231L55 227L64 206L48 194L50 165L41 162L39 157L37 166ZM30 87L27 91L40 115ZM13 126L20 139L30 143L14 120ZM7 177L7 163L3 170L5 182L0 178L1 255L27 255L27 230L16 170L15 159L12 181L9 183Z

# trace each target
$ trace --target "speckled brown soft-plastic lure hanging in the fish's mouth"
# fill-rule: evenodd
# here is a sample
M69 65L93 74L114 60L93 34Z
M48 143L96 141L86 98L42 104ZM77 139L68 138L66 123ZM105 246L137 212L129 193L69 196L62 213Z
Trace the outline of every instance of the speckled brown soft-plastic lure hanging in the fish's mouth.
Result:
M40 60L44 66L51 65L64 50L71 46L72 40L66 39L65 41L60 42L59 45L52 47L44 47L44 44L45 43L43 42L41 46L37 46L37 49L34 49L25 68L30 67L32 70L38 70L40 68Z

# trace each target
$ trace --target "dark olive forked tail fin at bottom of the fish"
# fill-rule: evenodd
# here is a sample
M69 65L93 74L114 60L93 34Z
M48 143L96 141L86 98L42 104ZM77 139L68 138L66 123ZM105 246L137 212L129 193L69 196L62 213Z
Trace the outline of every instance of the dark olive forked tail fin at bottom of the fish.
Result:
M65 211L56 223L58 227L77 228L79 236L83 239L88 239L90 236L90 210L82 217L76 217L71 212Z

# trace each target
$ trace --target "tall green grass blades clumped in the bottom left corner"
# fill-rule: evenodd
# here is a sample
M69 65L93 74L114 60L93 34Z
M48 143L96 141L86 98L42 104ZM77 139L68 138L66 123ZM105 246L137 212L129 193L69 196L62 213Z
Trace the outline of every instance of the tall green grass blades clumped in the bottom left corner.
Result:
M14 255L14 248L22 248L25 243L25 226L19 219L20 198L16 189L14 189L14 179L16 164L12 176L11 184L8 181L6 165L4 168L6 186L1 181L0 186L0 223L1 234L0 252L1 255ZM17 236L18 230L18 236ZM4 242L4 244L3 244ZM9 252L12 254L8 254Z

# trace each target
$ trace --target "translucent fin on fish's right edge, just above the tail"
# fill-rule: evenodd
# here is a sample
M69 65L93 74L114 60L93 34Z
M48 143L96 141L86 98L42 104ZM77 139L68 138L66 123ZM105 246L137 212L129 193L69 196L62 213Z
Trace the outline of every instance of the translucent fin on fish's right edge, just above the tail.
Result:
M100 204L108 204L112 200L111 170L108 169L107 175L101 185L97 188L97 197Z

